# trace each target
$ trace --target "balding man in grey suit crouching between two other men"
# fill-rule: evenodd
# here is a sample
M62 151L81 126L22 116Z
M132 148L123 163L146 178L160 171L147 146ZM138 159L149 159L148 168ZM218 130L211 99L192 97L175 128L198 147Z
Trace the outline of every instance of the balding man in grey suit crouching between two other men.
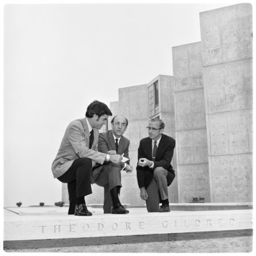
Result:
M110 155L124 155L129 158L129 139L123 137L127 129L128 120L122 115L116 115L112 121L112 130L100 133L98 151ZM125 214L129 213L119 201L118 194L122 187L121 171L132 172L133 167L126 163L111 163L105 161L96 164L92 170L92 183L104 187L104 213Z

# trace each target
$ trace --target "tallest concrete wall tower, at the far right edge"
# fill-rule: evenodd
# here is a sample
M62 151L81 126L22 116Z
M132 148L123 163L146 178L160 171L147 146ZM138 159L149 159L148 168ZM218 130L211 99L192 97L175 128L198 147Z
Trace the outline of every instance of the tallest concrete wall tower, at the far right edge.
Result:
M200 13L212 202L252 198L252 6Z

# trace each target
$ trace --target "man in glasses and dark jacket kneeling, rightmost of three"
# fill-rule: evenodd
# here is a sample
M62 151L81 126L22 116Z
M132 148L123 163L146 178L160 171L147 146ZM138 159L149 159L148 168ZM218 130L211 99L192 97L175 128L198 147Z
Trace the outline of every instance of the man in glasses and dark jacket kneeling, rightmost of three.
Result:
M170 212L167 187L175 177L171 166L175 139L163 134L164 126L161 119L152 118L147 127L149 137L139 143L137 179L148 212Z

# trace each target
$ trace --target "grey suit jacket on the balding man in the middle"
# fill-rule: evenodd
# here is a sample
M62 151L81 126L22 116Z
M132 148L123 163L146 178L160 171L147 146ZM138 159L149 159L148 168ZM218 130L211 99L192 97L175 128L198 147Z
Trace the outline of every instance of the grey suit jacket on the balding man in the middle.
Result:
M118 151L117 154L118 155L122 155L125 156L126 158L129 158L129 145L130 145L130 141L129 139L121 136L120 140L119 140L119 144L118 144ZM113 137L113 131L109 130L106 131L105 133L100 133L100 136L98 138L98 151L107 154L107 152L109 150L116 150L115 147L115 140ZM100 174L100 171L102 170L102 168L104 167L105 164L109 164L111 163L110 161L105 161L103 164L96 164L93 169L92 169L92 183L95 182L95 180L97 179L98 175ZM130 163L130 161L128 160L126 163ZM122 168L125 166L124 163L121 163Z

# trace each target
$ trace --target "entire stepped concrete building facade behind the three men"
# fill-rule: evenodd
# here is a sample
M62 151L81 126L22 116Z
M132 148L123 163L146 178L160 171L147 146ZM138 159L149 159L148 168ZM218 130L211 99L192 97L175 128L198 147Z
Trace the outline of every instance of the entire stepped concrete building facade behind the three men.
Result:
M192 197L204 197L205 203L253 200L252 6L200 13L200 30L201 42L172 47L173 76L120 88L118 101L110 102L113 116L129 120L123 135L130 139L134 171L122 173L123 204L145 204L135 167L152 117L163 119L164 133L176 139L170 203L188 203ZM86 203L103 204L103 189L92 187ZM65 184L63 200L68 203Z

